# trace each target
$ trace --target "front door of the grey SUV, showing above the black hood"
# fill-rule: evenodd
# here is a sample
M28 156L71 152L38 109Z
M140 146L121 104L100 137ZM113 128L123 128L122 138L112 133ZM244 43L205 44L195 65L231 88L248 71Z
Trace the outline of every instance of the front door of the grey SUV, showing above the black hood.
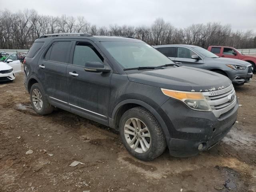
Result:
M192 59L192 55L198 55L189 48L186 47L177 47L177 56L175 58L175 63L179 64L180 66L189 66L189 67L196 67L196 68L205 68L204 60L200 57L199 60Z

